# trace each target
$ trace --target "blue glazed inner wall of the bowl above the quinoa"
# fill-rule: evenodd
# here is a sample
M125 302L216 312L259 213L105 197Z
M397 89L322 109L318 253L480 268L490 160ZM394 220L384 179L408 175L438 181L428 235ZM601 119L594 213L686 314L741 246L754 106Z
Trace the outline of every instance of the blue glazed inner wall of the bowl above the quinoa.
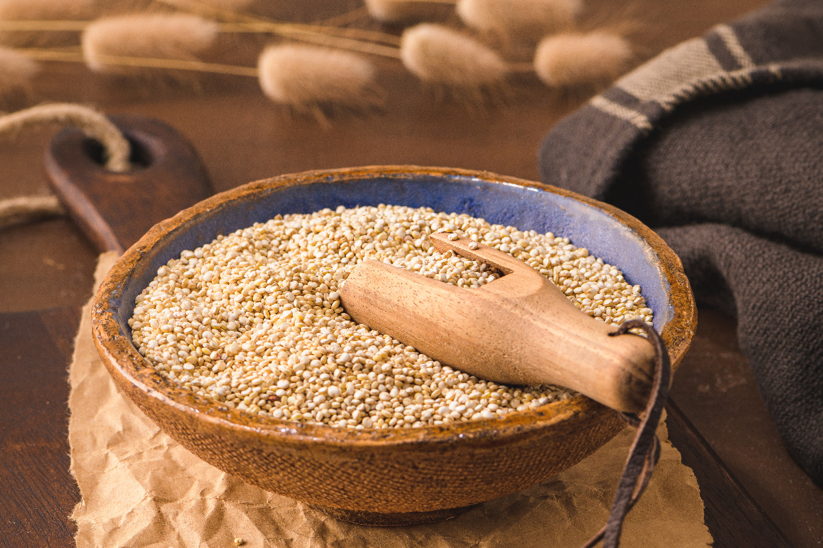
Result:
M208 210L195 223L172 231L142 257L123 292L115 297L119 302L112 303L118 311L120 328L123 334L131 334L127 322L133 314L134 298L154 279L161 265L184 250L277 214L379 204L465 213L489 223L568 237L574 246L586 247L594 256L621 269L627 282L640 285L654 311L653 324L658 332L674 318L667 298L669 284L658 269L656 254L637 233L605 211L568 196L509 182L453 174L390 173L347 181L330 176L328 182L266 187L253 197L229 200Z

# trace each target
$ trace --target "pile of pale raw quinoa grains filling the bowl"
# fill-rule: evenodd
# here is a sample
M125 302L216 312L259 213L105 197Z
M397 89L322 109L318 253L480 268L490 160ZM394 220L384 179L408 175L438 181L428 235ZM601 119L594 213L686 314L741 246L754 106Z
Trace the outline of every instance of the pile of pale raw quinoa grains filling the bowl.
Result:
M428 208L341 206L278 215L170 260L135 300L133 341L184 389L288 421L441 425L570 398L573 391L557 386L477 379L346 315L337 291L364 259L467 291L495 279L485 264L435 251L428 235L437 231L525 261L597 320L652 320L639 286L567 238Z

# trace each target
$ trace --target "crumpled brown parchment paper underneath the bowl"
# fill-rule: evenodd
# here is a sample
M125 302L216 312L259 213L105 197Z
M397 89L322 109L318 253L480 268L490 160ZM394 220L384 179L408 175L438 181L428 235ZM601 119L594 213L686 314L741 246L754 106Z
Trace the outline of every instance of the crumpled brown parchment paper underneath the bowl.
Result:
M100 283L116 260L100 256ZM550 481L481 504L449 521L413 527L344 523L217 470L188 453L120 394L91 340L86 305L69 379L72 473L82 500L72 513L87 548L551 548L580 546L608 515L633 431ZM666 426L658 430L667 440ZM709 546L694 474L667 441L621 546Z

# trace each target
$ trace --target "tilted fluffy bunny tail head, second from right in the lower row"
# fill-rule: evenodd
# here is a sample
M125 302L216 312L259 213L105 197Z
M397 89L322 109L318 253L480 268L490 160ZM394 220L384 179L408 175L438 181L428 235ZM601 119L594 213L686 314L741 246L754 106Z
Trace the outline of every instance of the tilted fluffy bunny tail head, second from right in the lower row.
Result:
M421 80L453 88L500 86L508 71L491 48L443 25L423 23L403 32L403 65Z

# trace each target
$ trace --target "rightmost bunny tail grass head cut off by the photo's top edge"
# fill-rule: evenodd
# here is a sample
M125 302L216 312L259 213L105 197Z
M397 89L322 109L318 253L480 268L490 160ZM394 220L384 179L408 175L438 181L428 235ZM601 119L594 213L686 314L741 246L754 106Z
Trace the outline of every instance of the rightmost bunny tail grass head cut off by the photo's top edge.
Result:
M537 43L543 36L570 30L580 0L459 0L457 13L473 29L505 42Z

